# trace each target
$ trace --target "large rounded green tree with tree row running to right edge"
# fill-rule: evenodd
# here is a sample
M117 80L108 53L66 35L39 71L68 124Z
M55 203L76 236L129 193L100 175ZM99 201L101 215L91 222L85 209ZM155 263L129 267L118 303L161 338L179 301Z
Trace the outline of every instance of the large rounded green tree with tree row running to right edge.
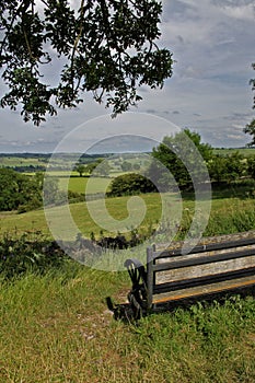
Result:
M254 178L255 155L250 155L245 159L239 151L227 155L215 154L210 144L201 142L199 134L190 131L189 129L184 129L184 131L176 134L174 137L165 137L162 143L152 151L152 156L163 163L173 174L178 186L188 188L192 184L192 178L176 148L182 148L182 153L185 153L185 161L192 167L195 178L196 172L200 173L202 171L200 164L196 163L196 156L192 148L188 148L188 142L190 141L185 139L185 137L193 141L194 146L201 154L212 183L231 183L245 176ZM175 148L174 151L173 148ZM155 173L154 166L157 165L152 162L149 174ZM198 176L201 176L201 174L198 174ZM165 178L164 174L158 170L158 178L160 177L162 177L162 181L159 181L159 184L163 183Z

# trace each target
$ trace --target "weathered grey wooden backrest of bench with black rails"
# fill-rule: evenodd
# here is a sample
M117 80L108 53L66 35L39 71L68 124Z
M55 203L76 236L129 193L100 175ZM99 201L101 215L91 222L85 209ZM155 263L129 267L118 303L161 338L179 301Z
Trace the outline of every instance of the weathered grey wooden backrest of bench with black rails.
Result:
M255 275L255 237L223 241L195 246L190 253L182 248L147 249L148 305L153 294L215 279L216 281Z

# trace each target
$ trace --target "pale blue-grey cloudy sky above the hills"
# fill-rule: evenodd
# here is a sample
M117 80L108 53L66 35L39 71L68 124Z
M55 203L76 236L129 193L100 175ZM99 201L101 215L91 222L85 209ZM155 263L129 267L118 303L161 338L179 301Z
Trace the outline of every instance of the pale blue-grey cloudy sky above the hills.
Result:
M79 127L88 140L83 151L111 135L137 131L158 140L162 121L164 134L170 124L199 132L212 147L245 146L251 138L243 128L254 118L248 83L255 77L254 0L163 0L161 20L159 46L170 49L175 60L163 90L140 89L138 107L114 121L111 111L90 94L79 107L59 111L40 127L23 123L19 112L0 109L0 152L53 152L65 148L61 142L81 131ZM48 81L55 81L55 66L48 68ZM5 88L0 84L2 94ZM67 150L76 150L76 144Z

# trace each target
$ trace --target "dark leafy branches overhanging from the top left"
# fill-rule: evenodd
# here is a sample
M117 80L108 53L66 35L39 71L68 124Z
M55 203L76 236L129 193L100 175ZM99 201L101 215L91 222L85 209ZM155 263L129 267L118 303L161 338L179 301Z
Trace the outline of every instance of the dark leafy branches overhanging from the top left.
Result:
M162 88L172 76L172 53L157 45L161 13L155 0L1 0L0 68L9 86L1 107L19 107L39 125L91 91L114 116L127 111L141 100L139 86ZM56 59L59 81L48 84L45 67Z

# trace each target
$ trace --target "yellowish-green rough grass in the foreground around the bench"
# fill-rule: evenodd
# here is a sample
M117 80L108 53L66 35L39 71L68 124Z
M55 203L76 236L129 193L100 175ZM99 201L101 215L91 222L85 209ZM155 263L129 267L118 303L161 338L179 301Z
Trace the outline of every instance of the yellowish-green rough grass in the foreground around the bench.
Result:
M1 282L0 382L198 383L255 381L255 300L193 305L116 322L125 274L70 263L56 275Z

